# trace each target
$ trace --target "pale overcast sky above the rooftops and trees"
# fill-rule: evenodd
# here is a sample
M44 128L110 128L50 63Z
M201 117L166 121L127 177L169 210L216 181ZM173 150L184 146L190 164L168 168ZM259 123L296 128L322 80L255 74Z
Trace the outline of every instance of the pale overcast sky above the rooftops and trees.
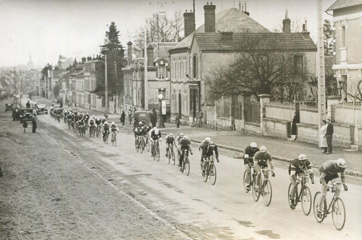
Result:
M335 1L323 0L323 10ZM216 5L216 13L239 8L238 0L195 0L196 28L204 23L203 5L207 2ZM282 24L288 9L291 20L307 19L307 30L316 39L317 0L240 2L246 2L250 17L269 30ZM0 0L0 67L27 64L29 54L39 67L47 63L54 66L59 55L79 60L99 54L111 22L126 47L153 13L165 12L171 17L176 10L184 13L191 9L192 0ZM323 17L332 20L326 13Z

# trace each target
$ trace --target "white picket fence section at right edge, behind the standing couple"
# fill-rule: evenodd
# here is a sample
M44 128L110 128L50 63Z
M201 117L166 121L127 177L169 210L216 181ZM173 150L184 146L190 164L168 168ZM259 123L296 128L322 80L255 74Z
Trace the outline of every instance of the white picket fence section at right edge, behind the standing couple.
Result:
M334 105L334 121L362 126L362 104L338 103Z

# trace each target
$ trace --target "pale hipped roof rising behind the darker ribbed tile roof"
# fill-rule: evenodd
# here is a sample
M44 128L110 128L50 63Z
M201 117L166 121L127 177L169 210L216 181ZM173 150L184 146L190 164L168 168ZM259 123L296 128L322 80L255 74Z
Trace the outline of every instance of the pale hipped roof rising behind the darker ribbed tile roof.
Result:
M244 28L250 29L252 33L269 33L270 31L247 14L237 8L229 8L215 15L215 30L218 32L244 33ZM173 49L190 47L194 33L204 33L204 25L193 31Z

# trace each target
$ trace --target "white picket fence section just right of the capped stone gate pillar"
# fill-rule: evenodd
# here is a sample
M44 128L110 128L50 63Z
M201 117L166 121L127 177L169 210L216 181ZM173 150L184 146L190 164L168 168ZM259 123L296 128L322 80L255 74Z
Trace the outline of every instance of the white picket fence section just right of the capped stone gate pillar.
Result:
M265 116L273 119L292 121L295 106L292 103L270 102L265 104Z

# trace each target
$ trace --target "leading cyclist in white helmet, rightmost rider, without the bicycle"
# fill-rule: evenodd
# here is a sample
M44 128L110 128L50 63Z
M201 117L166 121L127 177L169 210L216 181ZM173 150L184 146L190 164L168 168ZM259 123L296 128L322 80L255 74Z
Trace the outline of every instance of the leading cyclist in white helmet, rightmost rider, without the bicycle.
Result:
M321 206L323 204L323 200L327 195L327 191L329 191L328 183L331 181L332 183L341 183L343 184L344 190L347 191L348 187L346 183L346 160L343 158L338 158L337 160L329 160L322 164L319 168L320 172L320 183L321 183L321 194L318 201L318 211L317 216L321 218ZM341 179L338 176L338 173L341 173ZM340 185L337 185L337 196L339 196L341 192Z

